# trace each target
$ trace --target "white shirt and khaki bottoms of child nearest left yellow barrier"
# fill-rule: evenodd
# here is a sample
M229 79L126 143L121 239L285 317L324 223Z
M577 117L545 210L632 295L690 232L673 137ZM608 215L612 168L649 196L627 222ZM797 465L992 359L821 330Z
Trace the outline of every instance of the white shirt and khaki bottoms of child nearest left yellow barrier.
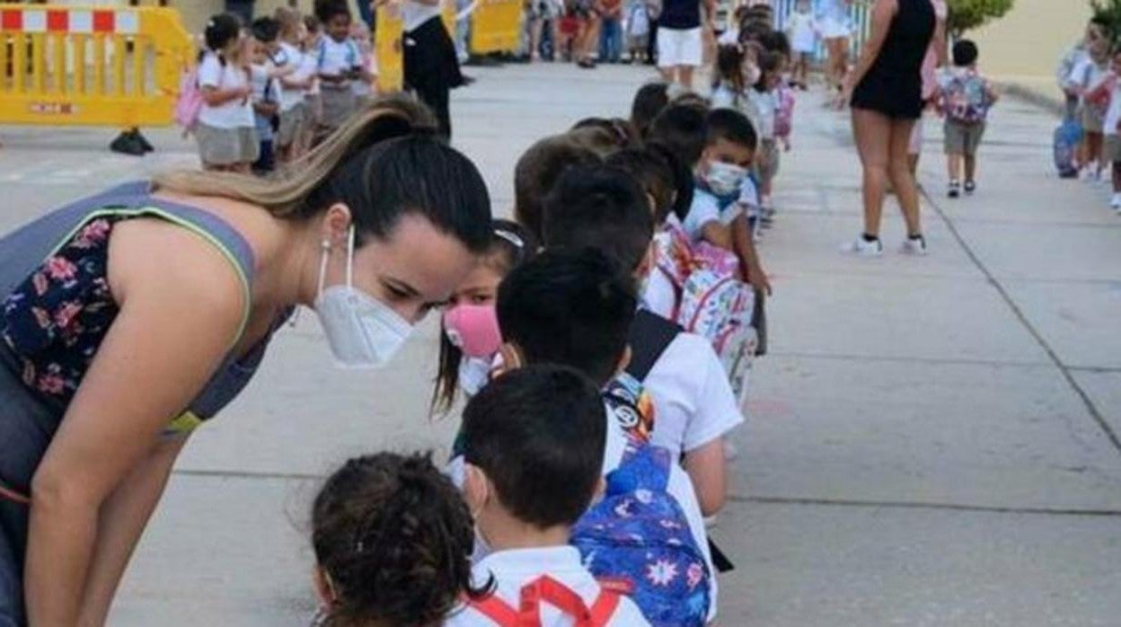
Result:
M198 65L198 86L220 91L245 87L249 86L249 73L243 67L223 63L214 53L206 53ZM230 100L217 107L203 104L194 135L198 156L206 165L253 163L260 153L249 98Z

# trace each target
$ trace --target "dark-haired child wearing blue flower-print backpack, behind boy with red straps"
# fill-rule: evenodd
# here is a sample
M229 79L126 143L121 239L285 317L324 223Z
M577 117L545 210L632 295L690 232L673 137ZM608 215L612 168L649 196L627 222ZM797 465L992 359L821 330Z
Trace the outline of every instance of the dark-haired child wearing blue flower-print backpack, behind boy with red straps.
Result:
M499 287L506 343L495 379L556 363L577 369L605 393L629 361L637 308L633 278L602 252L546 250ZM600 458L608 490L577 523L572 544L593 574L630 587L652 625L702 627L714 618L717 590L689 478L668 451L628 431L627 416L609 398L603 402L611 409L602 418L608 430Z

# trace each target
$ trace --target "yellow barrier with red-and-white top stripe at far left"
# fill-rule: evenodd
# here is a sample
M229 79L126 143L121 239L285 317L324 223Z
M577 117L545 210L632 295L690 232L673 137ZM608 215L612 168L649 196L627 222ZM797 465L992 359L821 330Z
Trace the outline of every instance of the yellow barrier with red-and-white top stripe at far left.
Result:
M174 9L0 3L0 123L168 126L194 54Z

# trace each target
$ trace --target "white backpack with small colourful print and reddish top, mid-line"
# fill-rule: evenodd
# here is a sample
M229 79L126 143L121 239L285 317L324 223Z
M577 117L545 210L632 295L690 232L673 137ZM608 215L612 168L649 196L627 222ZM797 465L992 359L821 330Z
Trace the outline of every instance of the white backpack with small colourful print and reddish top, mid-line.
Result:
M712 343L732 391L742 402L759 342L751 325L754 292L739 279L735 255L704 241L693 243L676 227L669 227L667 232L669 237L655 241L658 270L677 288L671 317Z

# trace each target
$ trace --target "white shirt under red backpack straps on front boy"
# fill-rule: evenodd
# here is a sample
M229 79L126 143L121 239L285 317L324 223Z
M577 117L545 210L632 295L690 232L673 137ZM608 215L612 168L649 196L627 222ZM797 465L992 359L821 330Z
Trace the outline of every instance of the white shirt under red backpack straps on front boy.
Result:
M472 579L483 583L493 578L494 593L512 609L517 610L521 599L521 589L540 578L548 575L584 600L586 607L592 607L603 588L591 572L581 563L580 552L572 546L548 546L541 548L516 548L491 553L472 569ZM541 627L572 627L576 625L574 617L563 614L552 603L541 602L538 615ZM471 606L457 608L444 621L447 627L494 627L494 620L488 618ZM623 597L605 626L642 627L650 625L634 601Z

